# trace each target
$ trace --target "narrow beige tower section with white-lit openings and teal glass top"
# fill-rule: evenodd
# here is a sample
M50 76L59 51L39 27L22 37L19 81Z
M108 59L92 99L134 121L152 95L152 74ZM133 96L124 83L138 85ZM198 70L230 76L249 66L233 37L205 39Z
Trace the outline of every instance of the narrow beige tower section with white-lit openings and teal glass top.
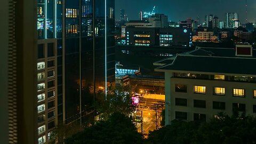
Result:
M57 7L55 1L37 4L37 113L38 143L47 143L58 124Z

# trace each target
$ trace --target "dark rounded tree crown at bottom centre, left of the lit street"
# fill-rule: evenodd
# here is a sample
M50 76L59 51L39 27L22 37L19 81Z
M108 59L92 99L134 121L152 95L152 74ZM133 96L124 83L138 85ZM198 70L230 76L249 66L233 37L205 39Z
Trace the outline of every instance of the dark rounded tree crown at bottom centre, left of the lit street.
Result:
M99 121L66 140L67 144L82 143L142 143L132 120L124 114L113 113L107 121Z

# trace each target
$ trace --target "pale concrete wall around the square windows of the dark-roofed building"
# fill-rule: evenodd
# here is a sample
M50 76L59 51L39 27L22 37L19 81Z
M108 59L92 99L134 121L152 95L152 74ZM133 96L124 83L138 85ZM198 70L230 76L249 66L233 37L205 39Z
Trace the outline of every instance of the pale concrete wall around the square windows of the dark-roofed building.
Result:
M165 92L166 102L170 100L169 122L175 119L175 111L188 113L188 121L194 120L194 113L206 114L206 121L217 115L222 110L212 108L212 101L226 102L226 110L228 115L233 114L233 103L245 103L246 114L255 115L253 113L253 105L256 105L256 99L253 98L253 90L256 89L255 83L227 82L227 81L210 81L199 79L171 78L166 77ZM168 84L168 85L167 85ZM170 84L170 85L169 85ZM187 93L175 92L175 84L187 85ZM206 86L206 94L194 93L194 86ZM214 95L214 87L225 87L226 95ZM233 89L245 89L245 97L234 97ZM175 106L175 98L187 99L187 107ZM205 100L206 108L194 108L194 100Z

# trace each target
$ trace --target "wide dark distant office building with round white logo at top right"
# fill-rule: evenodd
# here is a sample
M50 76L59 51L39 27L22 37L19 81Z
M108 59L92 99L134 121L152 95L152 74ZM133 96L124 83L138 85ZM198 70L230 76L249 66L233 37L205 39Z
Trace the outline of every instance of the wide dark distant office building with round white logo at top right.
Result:
M191 29L126 27L126 44L135 46L192 46Z

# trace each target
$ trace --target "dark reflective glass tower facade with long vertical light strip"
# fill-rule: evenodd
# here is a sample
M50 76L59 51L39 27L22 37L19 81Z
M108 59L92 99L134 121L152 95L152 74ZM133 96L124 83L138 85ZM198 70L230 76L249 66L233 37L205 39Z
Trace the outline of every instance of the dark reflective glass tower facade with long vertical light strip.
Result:
M81 6L90 7L83 12ZM94 98L115 82L115 1L65 1L62 19L63 121L90 122ZM61 73L60 73L61 74ZM82 121L81 121L82 120Z

